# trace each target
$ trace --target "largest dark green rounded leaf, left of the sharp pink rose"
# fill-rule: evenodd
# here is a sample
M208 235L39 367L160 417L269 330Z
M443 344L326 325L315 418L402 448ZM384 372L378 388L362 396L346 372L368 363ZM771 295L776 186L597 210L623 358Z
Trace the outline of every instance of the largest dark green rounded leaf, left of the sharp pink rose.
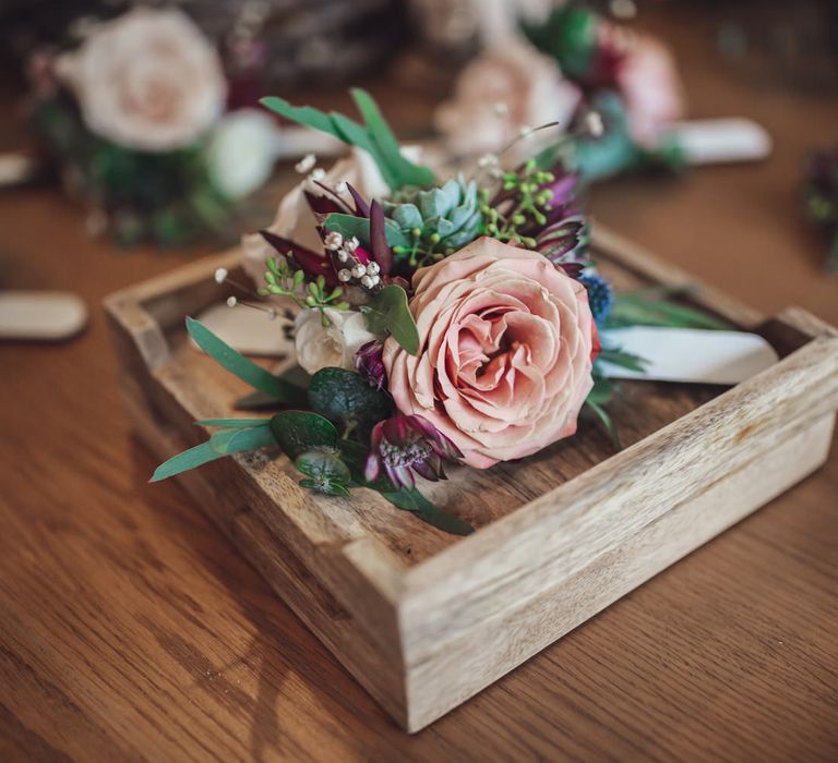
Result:
M321 368L311 378L309 403L345 428L358 427L367 437L372 426L393 413L386 392L371 387L360 374L344 368Z

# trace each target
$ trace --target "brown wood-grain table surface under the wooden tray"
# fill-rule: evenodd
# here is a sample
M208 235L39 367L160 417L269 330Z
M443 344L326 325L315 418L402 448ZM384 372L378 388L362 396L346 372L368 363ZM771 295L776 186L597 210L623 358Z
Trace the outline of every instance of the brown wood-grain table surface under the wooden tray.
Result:
M692 114L753 117L774 155L611 183L594 211L752 306L838 324L795 185L836 138L838 97L731 76L695 21L647 21L692 29ZM0 760L838 760L838 449L430 728L398 730L177 482L146 484L99 302L189 256L91 241L51 189L0 195L3 287L70 289L93 311L70 343L0 346Z

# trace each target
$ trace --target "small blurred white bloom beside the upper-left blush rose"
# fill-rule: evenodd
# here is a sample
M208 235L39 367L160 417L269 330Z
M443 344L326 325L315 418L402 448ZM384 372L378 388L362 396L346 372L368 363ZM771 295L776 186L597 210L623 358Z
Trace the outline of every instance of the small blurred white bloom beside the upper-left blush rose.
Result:
M213 185L231 199L253 193L271 177L278 141L278 129L264 111L227 114L213 131L206 152Z

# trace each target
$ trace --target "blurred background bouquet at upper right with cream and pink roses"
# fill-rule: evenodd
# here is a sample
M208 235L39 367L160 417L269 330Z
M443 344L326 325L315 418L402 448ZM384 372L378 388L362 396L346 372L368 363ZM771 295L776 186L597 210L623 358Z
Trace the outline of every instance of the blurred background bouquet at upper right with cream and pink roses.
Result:
M519 28L490 39L460 73L435 117L451 150L494 153L520 132L556 122L574 135L561 144L565 160L587 179L680 167L673 125L684 101L667 46L585 3L547 5L540 16L520 9ZM601 134L579 131L591 113L602 120Z

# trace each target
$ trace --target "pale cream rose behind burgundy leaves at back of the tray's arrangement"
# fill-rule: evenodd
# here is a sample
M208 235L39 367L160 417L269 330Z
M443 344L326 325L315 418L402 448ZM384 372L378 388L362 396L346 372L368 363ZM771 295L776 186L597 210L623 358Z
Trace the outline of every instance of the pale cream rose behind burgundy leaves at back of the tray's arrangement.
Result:
M367 152L359 148L352 148L348 157L335 162L321 182L337 189L343 181L350 183L367 199L381 198L388 193L387 184L375 162ZM279 203L276 218L267 230L313 252L322 252L323 242L316 230L318 222L306 201L304 191L315 196L324 195L323 189L316 183L309 179L303 180L285 195ZM339 195L348 205L355 206L348 191L343 190ZM243 235L241 247L244 270L261 286L265 275L265 261L276 252L259 233Z

